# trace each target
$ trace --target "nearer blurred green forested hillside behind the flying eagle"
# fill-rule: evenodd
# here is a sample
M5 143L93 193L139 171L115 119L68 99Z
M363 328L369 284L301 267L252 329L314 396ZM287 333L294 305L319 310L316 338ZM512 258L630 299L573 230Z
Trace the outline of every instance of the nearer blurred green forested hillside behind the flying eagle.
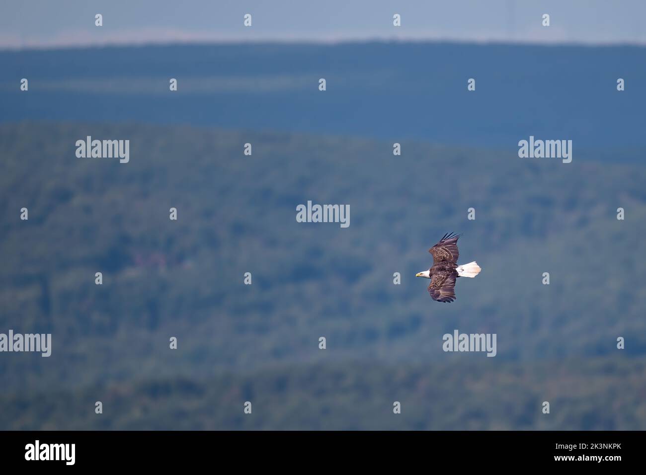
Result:
M130 140L129 163L77 158L86 136ZM0 332L53 342L0 358L0 428L644 428L646 167L392 142L0 125ZM307 200L350 226L298 223ZM414 276L448 231L483 271L441 304ZM444 353L454 329L497 356ZM209 412L250 397L253 422Z

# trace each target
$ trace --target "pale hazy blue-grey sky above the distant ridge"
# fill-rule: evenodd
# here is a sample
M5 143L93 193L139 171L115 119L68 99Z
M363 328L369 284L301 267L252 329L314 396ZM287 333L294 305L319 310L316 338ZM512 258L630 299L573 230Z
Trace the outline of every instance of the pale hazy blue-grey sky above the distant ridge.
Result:
M549 27L541 25L546 13ZM646 0L0 0L0 48L269 39L646 44L645 22Z

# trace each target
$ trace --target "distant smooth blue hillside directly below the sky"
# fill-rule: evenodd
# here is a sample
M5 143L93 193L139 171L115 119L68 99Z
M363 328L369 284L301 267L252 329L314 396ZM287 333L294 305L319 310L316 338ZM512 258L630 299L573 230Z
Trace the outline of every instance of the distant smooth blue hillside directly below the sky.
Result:
M276 129L508 151L534 134L610 161L643 158L644 47L147 45L0 51L0 64L0 121Z

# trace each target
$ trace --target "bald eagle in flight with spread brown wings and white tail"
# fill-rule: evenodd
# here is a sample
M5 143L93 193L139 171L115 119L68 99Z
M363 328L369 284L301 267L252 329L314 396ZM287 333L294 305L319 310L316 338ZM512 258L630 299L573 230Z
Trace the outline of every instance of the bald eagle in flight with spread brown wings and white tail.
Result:
M455 300L455 279L458 277L475 277L480 273L477 262L457 265L457 240L461 235L445 234L440 242L428 249L433 255L433 267L428 271L418 272L415 277L431 279L428 293L438 302L453 302Z

